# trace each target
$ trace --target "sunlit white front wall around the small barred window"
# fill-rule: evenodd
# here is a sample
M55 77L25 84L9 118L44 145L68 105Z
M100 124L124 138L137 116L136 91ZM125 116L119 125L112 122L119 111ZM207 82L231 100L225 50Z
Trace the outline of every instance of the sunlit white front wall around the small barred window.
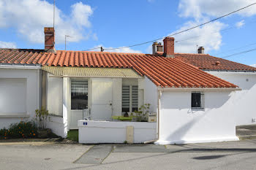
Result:
M193 111L191 91L162 92L157 144L238 140L231 93L205 91L205 109Z

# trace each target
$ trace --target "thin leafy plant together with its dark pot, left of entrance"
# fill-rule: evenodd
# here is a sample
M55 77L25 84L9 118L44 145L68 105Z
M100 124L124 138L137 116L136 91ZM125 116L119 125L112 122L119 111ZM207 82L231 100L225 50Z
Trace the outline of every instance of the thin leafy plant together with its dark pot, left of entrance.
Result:
M41 109L36 109L36 118L37 121L37 136L39 138L47 138L51 134L50 128L46 128L46 123L48 120L50 120L49 112L44 107L41 107Z

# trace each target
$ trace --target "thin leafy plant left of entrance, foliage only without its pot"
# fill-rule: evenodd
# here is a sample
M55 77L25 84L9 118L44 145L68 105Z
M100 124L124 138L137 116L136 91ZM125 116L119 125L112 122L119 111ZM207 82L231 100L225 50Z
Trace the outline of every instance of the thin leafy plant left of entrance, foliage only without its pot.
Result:
M36 118L37 125L39 129L45 129L46 128L46 122L48 120L49 112L45 107L41 107L41 109L36 109ZM50 120L50 117L49 117Z

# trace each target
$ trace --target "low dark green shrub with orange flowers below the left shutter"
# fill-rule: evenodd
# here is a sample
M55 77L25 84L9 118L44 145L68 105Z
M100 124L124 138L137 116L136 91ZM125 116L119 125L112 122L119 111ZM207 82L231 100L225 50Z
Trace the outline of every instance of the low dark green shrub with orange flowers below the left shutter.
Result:
M37 127L32 122L15 123L9 129L0 129L0 139L36 138Z

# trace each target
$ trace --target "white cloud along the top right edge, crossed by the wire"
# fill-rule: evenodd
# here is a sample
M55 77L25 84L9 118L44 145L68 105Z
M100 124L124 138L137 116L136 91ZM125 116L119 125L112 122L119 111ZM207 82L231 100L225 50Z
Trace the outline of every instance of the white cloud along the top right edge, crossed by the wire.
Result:
M205 15L219 17L236 9L255 3L255 0L181 0L178 4L181 17L204 18ZM252 16L256 14L256 5L237 12L238 15Z

